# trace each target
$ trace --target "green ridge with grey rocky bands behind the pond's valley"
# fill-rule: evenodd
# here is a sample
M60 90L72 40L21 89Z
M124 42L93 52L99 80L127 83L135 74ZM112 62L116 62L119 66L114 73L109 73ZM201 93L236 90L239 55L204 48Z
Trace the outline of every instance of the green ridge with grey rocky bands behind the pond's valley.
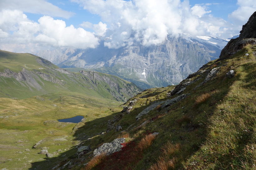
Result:
M126 101L139 92L132 83L94 71L70 72L28 53L0 51L0 97L25 99L63 92Z

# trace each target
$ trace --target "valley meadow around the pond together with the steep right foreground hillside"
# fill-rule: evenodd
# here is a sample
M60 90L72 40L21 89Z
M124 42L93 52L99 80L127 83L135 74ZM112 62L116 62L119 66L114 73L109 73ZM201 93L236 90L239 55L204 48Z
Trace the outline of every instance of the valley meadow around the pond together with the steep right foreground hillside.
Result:
M120 106L68 92L1 98L0 167L255 169L255 24L256 12L219 59L180 84ZM85 119L57 122L71 115Z

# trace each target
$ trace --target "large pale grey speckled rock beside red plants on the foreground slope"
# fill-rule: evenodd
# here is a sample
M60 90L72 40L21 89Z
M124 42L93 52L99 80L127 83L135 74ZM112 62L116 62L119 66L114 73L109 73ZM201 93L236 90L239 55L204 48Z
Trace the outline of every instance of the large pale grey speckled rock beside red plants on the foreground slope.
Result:
M124 142L125 138L118 138L110 143L104 143L99 148L95 149L93 154L94 156L99 155L101 153L106 153L106 155L113 154L114 152L118 152L121 150L121 148L123 147L123 145L121 144Z

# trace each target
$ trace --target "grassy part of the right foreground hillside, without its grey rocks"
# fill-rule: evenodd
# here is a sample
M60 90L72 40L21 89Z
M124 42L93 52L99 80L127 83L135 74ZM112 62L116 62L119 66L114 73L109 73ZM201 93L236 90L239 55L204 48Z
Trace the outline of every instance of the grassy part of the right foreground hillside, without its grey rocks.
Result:
M202 79L186 87L183 93L190 95L185 99L165 109L157 107L136 121L151 102L169 99L166 93L173 86L138 94L131 113L116 122L124 132L112 130L90 141L93 149L116 137L128 137L131 142L116 154L98 162L93 159L96 165L88 157L91 153L82 163L89 161L94 169L255 169L255 49L247 45L228 59L209 62L203 70L220 67L213 79L193 90L207 74L192 77ZM225 75L231 69L235 76L228 78ZM150 139L148 134L153 132L160 134Z

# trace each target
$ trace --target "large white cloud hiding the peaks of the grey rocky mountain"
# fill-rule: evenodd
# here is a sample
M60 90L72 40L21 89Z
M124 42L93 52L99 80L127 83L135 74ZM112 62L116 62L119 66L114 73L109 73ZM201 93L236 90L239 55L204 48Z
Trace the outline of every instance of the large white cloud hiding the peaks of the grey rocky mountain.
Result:
M229 23L210 15L209 5L191 7L188 0L71 0L99 15L109 26L105 46L119 48L136 42L148 46L167 36L222 35ZM210 21L207 21L210 19ZM214 25L217 24L217 25ZM218 32L220 30L220 32Z

